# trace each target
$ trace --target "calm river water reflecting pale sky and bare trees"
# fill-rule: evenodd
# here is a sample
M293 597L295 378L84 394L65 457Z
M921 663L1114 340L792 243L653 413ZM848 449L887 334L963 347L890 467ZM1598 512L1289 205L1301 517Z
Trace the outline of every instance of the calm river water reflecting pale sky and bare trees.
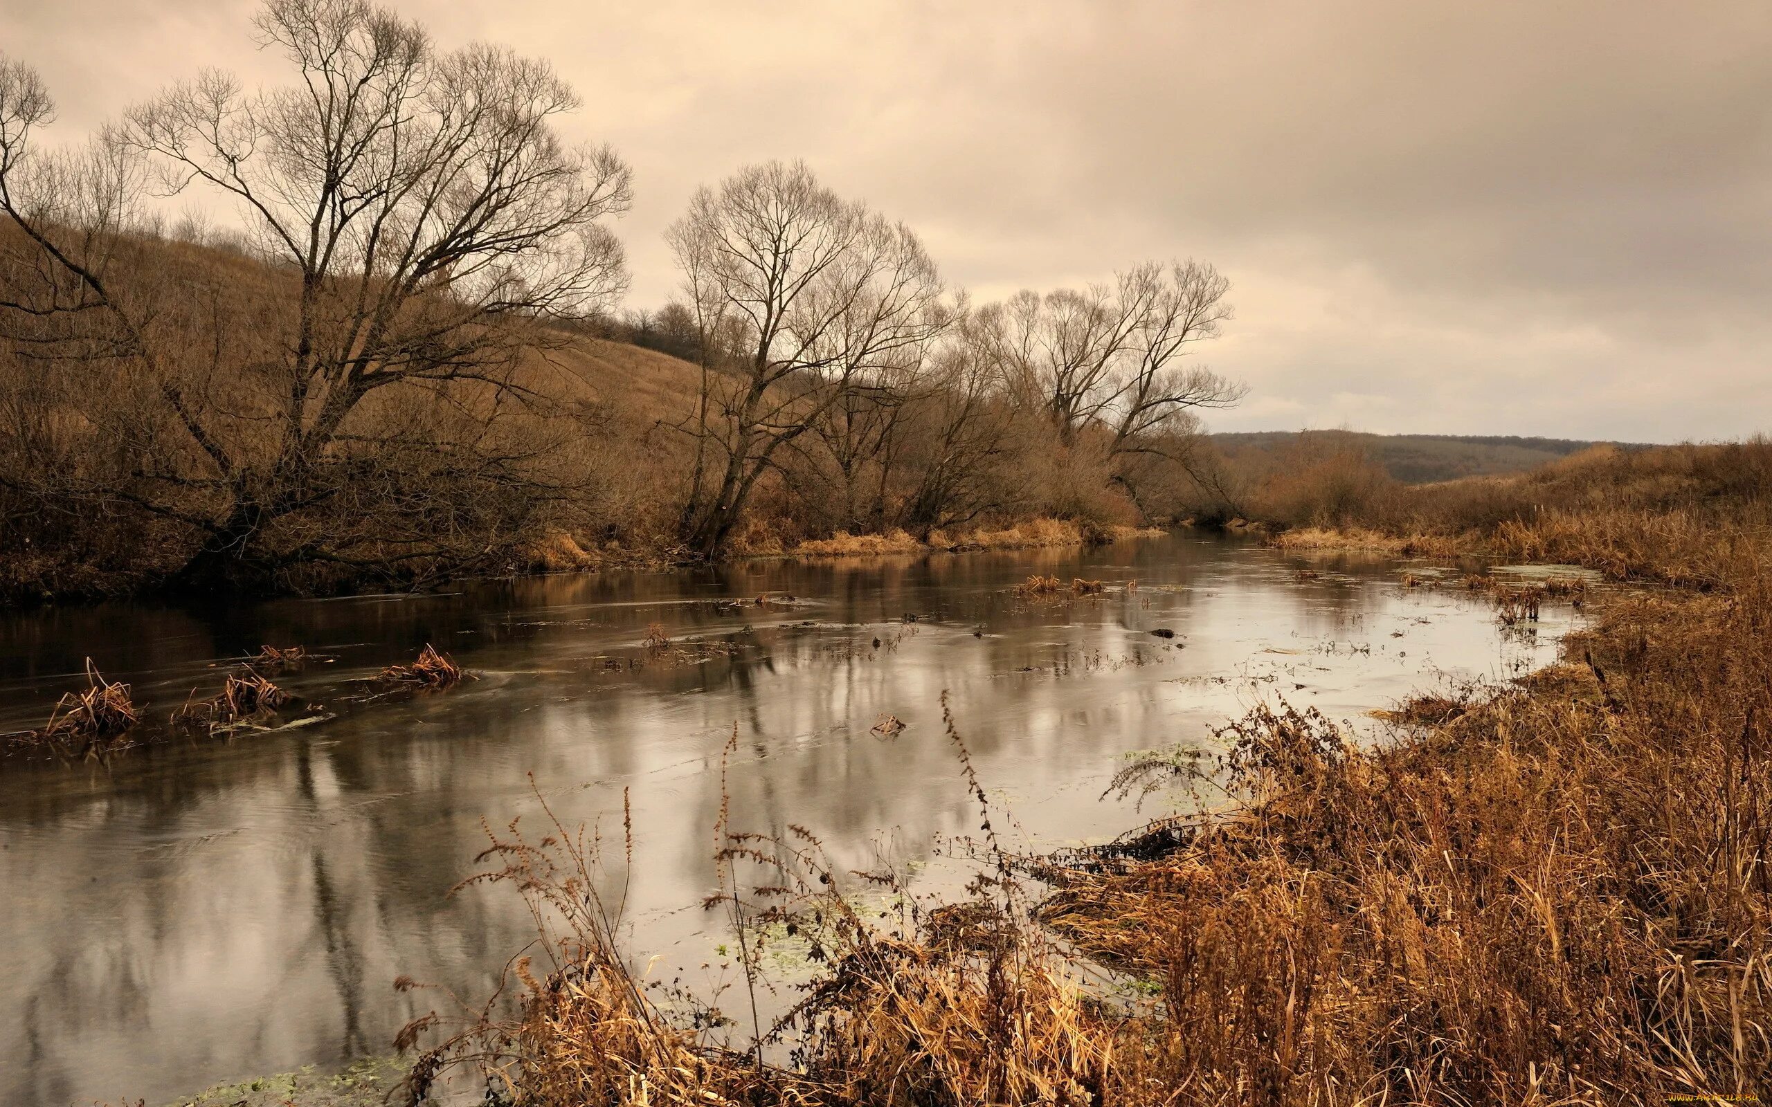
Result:
M39 724L85 657L163 712L264 643L328 655L280 682L338 717L0 765L0 1103L159 1103L385 1054L409 1017L447 1010L397 992L402 974L478 1002L533 926L503 887L448 891L477 871L482 818L533 824L539 795L618 838L629 792L634 960L711 983L696 972L719 972L727 939L698 902L734 728L735 829L801 824L838 864L930 887L955 880L937 840L978 822L943 691L1012 841L1044 848L1155 813L1102 799L1129 751L1212 749L1210 726L1278 698L1370 726L1412 691L1550 661L1570 625L1547 608L1536 632L1504 631L1480 597L1398 570L1168 537L4 615L0 730ZM1030 574L1108 592L1017 597ZM794 600L757 606L766 592ZM672 661L641 645L652 623L734 652ZM360 701L356 680L425 643L478 678ZM888 717L904 730L875 730Z

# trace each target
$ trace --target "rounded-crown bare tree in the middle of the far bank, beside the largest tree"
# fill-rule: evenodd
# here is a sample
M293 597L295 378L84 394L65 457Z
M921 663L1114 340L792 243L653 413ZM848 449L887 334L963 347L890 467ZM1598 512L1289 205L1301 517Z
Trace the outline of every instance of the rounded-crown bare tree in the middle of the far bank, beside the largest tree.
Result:
M780 450L946 314L916 236L838 198L801 163L748 166L700 190L668 239L702 349L679 533L714 556Z

